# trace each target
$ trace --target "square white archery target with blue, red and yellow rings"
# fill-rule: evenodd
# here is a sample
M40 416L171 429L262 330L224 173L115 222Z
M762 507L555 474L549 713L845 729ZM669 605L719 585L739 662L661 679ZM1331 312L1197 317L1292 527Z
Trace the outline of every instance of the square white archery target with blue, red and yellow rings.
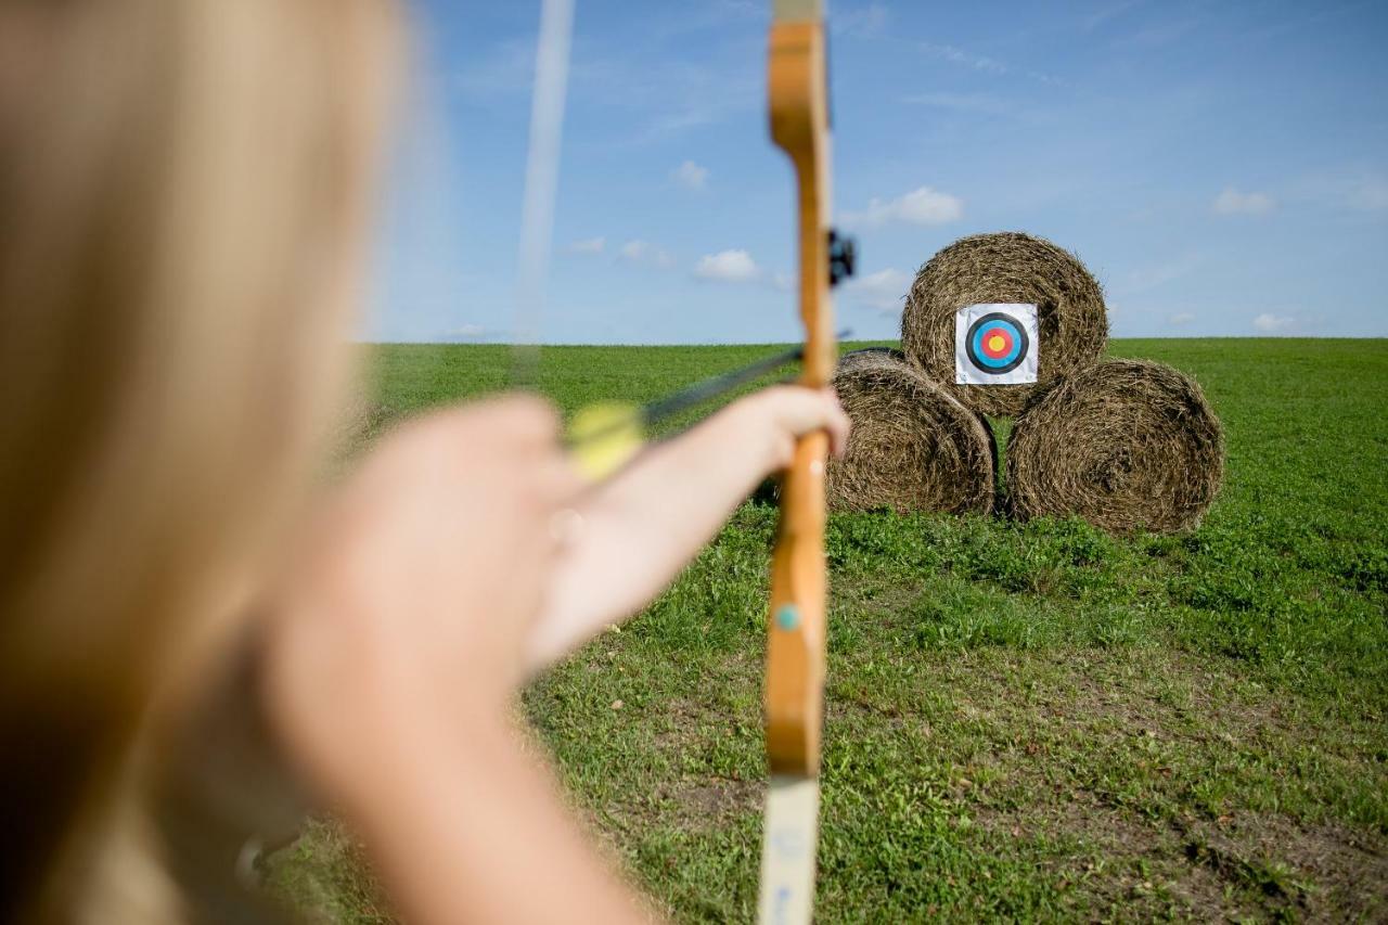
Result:
M965 306L955 312L955 383L1026 385L1037 381L1037 307Z

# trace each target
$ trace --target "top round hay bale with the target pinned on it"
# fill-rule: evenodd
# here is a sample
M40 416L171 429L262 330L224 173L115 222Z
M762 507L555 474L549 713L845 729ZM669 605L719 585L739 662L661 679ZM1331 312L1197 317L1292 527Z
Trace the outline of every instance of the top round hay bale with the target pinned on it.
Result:
M1037 307L1037 383L955 385L955 312L984 303ZM1103 292L1077 257L1020 232L974 235L949 244L916 274L901 317L901 346L912 362L965 406L1013 415L1062 375L1098 358L1109 338Z

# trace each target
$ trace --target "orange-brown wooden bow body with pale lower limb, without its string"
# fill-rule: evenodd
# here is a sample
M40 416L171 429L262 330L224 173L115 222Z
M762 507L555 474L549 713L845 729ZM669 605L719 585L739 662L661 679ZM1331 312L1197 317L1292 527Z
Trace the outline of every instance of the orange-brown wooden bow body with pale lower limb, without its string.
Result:
M775 0L769 101L772 139L795 168L799 211L801 382L829 385L837 361L829 297L829 99L824 0ZM837 278L845 267L834 268ZM799 439L781 483L766 643L770 788L759 921L809 922L819 840L819 739L824 701L824 464L829 436Z

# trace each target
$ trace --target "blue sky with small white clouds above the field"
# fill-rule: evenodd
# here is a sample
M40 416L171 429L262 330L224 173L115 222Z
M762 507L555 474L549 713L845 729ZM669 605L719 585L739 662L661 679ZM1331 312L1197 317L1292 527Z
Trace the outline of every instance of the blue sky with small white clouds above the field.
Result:
M507 342L537 0L418 4L372 339ZM799 338L770 0L577 0L550 343ZM1388 3L830 3L841 325L1020 229L1116 336L1388 335Z

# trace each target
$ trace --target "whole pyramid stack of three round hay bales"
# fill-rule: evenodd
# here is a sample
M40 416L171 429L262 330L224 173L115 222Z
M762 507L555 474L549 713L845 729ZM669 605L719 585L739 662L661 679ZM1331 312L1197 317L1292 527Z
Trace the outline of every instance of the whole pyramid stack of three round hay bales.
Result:
M956 317L969 306L1035 306L1035 382L956 382ZM1077 257L1019 232L955 242L920 268L902 314L904 353L845 357L836 386L854 421L830 465L837 510L988 511L997 447L983 415L1012 417L1005 508L1026 519L1176 532L1219 490L1219 419L1188 376L1101 361L1103 292Z

